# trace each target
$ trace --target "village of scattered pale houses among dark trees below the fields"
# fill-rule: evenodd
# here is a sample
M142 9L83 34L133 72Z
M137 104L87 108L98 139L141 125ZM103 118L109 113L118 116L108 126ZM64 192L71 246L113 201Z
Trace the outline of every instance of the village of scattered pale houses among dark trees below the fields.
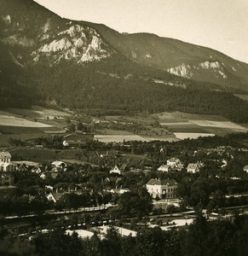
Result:
M206 140L199 138L202 139ZM60 149L62 152L70 150L78 155L78 149L68 149L65 142L60 142L64 147ZM245 212L247 149L199 148L193 146L195 140L191 143L192 149L186 152L184 148L188 145L185 147L182 142L106 144L89 140L77 160L39 162L36 156L33 160L22 156L20 160L18 151L11 149L13 158L11 150L3 149L0 153L2 222L21 234L35 227L29 221L26 228L20 228L18 221L10 225L9 219L14 222L18 218L53 215L57 218L53 220L55 223L63 219L62 225L66 217L67 225L73 226L66 230L68 234L83 227L87 235L95 225L110 222L117 224L118 229L126 229L120 232L130 234L143 224L147 228L159 225L164 230L190 224L193 209L199 205L208 218L224 217L232 207ZM24 148L23 152L51 150L37 145L33 149ZM137 226L133 225L135 219ZM43 220L39 224L41 229L47 230L49 222Z

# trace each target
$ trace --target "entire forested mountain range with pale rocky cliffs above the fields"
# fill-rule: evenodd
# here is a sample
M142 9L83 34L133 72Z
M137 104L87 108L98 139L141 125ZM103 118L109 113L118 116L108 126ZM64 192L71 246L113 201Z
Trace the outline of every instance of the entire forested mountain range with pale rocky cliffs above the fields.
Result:
M0 32L2 108L181 110L248 120L248 102L232 94L248 90L247 65L215 50L62 19L32 0L1 0Z

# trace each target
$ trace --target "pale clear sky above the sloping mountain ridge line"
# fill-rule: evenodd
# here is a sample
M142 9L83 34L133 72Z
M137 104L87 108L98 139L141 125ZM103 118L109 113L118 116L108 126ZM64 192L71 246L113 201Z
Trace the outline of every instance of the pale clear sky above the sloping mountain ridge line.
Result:
M151 32L248 63L248 0L35 0L61 17Z

